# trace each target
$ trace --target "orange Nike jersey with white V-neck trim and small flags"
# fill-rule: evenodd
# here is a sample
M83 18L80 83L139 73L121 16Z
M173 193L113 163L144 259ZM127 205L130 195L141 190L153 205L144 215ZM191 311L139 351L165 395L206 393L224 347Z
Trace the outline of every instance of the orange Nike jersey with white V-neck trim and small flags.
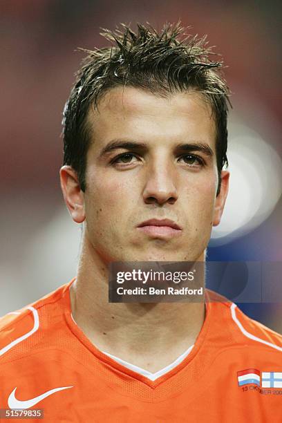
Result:
M191 353L152 381L77 327L71 283L0 319L0 408L50 423L282 422L282 337L234 303L207 302Z

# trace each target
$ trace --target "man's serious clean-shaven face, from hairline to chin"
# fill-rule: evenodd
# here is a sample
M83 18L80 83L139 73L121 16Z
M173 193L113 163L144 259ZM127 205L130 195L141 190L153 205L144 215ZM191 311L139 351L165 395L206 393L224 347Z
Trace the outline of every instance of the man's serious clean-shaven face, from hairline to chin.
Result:
M88 124L84 215L91 250L106 262L203 260L223 208L216 203L216 127L203 96L162 98L117 87L89 112Z

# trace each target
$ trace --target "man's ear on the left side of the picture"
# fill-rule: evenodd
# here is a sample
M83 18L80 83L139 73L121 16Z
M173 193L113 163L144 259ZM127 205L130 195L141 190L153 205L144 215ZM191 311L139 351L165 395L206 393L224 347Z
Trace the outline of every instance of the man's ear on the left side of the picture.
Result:
M84 192L80 189L76 171L71 166L63 166L59 178L68 212L76 223L82 223L85 219Z

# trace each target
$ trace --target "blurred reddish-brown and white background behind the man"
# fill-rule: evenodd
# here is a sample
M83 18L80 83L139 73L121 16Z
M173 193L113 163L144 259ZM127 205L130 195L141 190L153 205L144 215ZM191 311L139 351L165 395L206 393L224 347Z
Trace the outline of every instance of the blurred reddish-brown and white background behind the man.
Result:
M207 257L281 262L281 11L262 0L0 1L0 315L75 276L80 228L59 187L62 110L83 57L75 49L105 46L100 27L120 22L161 28L181 19L223 55L232 178ZM279 301L241 308L282 332Z

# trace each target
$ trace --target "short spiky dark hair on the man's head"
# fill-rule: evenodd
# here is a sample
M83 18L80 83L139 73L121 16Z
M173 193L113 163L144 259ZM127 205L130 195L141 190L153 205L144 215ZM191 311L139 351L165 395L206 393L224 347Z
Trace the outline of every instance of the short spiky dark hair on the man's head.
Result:
M115 86L144 88L155 95L168 96L194 89L212 106L216 122L218 175L227 164L227 112L229 89L220 74L223 62L212 62L212 48L206 37L187 35L178 23L166 23L162 30L138 23L137 32L121 24L100 35L112 46L84 50L88 55L76 74L75 85L66 102L63 118L64 164L71 165L86 189L86 154L91 142L87 114L98 107L103 93ZM220 188L220 183L218 185ZM219 191L219 189L218 189Z

